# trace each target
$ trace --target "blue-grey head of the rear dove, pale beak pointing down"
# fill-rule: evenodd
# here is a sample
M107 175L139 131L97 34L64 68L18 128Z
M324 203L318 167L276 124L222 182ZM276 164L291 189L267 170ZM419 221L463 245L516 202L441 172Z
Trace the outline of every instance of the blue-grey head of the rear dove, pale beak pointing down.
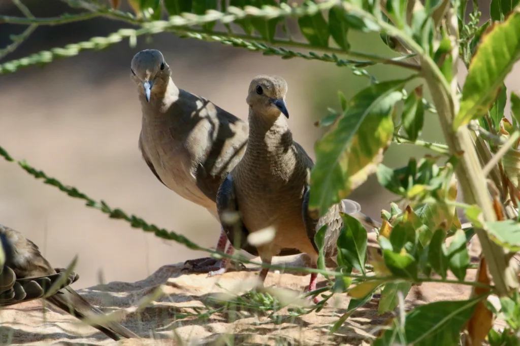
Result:
M139 92L150 102L153 94L164 94L170 81L170 66L162 53L155 49L141 50L132 59L132 79Z

